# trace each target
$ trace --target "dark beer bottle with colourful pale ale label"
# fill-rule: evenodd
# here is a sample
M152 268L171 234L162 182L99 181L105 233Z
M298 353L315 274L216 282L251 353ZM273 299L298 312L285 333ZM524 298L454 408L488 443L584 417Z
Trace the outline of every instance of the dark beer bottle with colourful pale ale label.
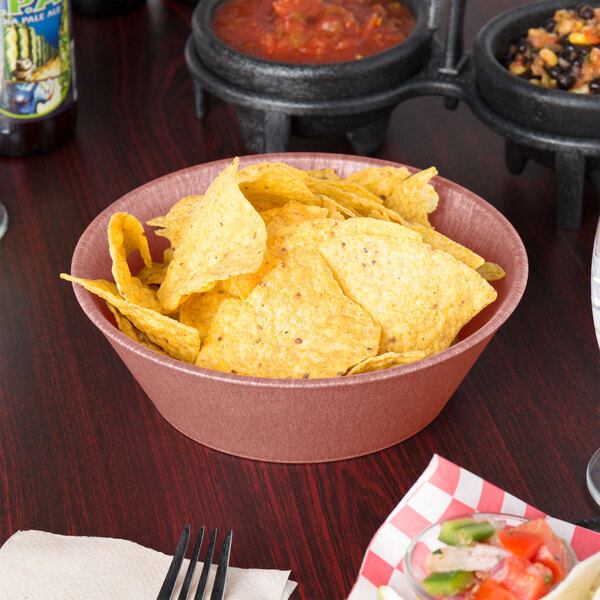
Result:
M70 0L0 0L0 155L49 150L73 134L77 90Z

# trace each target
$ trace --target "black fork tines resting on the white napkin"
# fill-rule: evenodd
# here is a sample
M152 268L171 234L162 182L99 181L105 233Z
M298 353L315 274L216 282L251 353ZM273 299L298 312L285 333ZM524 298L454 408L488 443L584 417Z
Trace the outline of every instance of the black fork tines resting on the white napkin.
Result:
M225 536L225 539L223 540L223 545L221 546L221 554L219 555L219 564L217 566L217 573L215 575L215 581L213 583L213 589L210 595L210 600L223 600L223 597L225 596L225 583L227 580L227 570L229 568L229 554L231 552L232 535L233 532L229 530L227 532L227 535ZM171 565L169 566L169 570L167 571L167 576L165 577L165 580L163 582L162 587L160 588L160 592L158 593L156 600L171 600L171 596L173 595L173 590L175 589L175 584L177 582L177 576L179 575L181 564L183 563L183 559L185 558L185 551L187 549L189 539L190 526L186 525L183 529L183 532L181 533L181 538L179 539L179 543L177 544L175 554L173 555L173 560L171 561ZM179 592L178 600L186 600L188 597L190 587L192 584L192 578L194 576L194 571L196 569L196 565L198 564L198 556L200 555L200 548L202 547L203 539L204 526L202 526L202 528L200 529L200 533L196 538L196 543L194 545L192 557L190 558L190 564L185 574L181 591ZM200 574L200 580L198 582L196 594L194 595L194 600L202 600L204 598L204 592L206 591L206 582L208 581L208 572L212 563L216 539L217 529L215 528L213 529L213 532L210 536L210 541L208 543L208 549L206 550L204 565L202 567L202 573Z

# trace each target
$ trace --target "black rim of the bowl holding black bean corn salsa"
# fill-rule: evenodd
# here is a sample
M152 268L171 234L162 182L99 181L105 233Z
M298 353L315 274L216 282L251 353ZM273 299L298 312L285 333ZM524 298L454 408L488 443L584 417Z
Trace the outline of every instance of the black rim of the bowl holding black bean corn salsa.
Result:
M590 0L589 3L600 7L599 0ZM538 0L504 11L485 23L475 37L473 57L475 62L480 65L481 61L485 61L486 70L492 70L492 72L486 73L486 80L498 80L499 78L498 87L514 87L520 93L536 98L540 102L551 101L553 104L559 104L566 109L586 108L597 110L598 96L536 86L517 75L513 75L502 65L492 48L492 43L497 37L513 25L515 21L541 18L546 13L553 15L560 8L574 8L577 4L579 4L578 0ZM541 24L539 26L542 27ZM476 71L480 71L480 69L476 69ZM475 75L477 81L477 72Z

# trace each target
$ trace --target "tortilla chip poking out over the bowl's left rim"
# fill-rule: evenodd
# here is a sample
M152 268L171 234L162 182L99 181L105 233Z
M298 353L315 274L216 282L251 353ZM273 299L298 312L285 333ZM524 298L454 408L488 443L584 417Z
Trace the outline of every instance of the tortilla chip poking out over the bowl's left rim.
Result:
M159 312L131 304L116 293L115 284L104 279L80 279L65 273L60 275L67 281L78 283L88 292L96 294L114 306L124 317L148 339L162 348L169 356L187 363L194 363L200 350L198 330L189 327Z

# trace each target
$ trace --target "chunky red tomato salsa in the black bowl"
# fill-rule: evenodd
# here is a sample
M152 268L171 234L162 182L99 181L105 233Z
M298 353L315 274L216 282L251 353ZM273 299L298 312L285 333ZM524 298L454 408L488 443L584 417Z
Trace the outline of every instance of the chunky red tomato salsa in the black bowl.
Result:
M402 42L414 17L391 0L227 0L215 35L236 50L287 63L345 62Z

